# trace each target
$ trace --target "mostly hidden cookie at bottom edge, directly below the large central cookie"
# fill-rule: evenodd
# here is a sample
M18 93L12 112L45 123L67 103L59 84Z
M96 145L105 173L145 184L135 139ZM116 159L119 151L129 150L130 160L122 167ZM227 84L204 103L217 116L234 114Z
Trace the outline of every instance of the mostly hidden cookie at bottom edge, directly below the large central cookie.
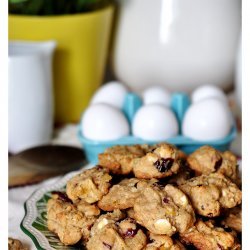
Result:
M185 247L178 241L174 241L167 235L153 234L148 235L149 243L145 250L185 250Z

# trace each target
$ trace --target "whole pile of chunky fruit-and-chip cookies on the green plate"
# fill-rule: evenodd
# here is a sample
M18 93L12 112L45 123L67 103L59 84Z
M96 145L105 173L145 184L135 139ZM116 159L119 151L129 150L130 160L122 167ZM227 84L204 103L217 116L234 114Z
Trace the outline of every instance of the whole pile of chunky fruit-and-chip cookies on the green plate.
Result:
M48 228L89 250L240 249L237 158L203 146L114 146L52 192Z

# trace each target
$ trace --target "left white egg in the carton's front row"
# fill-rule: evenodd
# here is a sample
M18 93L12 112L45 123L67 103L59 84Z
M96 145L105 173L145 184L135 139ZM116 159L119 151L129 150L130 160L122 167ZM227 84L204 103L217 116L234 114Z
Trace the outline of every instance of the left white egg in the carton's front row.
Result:
M94 104L83 114L81 131L91 140L116 140L129 134L129 124L119 109L108 104Z

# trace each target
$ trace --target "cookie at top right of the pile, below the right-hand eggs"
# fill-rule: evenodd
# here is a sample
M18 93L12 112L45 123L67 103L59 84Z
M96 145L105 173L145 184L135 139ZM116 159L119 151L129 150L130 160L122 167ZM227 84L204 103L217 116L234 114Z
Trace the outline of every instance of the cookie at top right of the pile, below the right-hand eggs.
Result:
M210 146L203 146L188 156L187 162L196 175L221 173L239 184L239 172L236 156L226 151L221 153Z

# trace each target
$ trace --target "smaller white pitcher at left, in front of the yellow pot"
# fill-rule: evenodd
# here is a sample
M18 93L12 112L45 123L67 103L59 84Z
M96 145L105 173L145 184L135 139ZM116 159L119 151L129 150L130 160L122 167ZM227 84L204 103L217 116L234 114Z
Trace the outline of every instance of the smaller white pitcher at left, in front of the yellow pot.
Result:
M53 132L55 41L9 42L9 152L49 143Z

